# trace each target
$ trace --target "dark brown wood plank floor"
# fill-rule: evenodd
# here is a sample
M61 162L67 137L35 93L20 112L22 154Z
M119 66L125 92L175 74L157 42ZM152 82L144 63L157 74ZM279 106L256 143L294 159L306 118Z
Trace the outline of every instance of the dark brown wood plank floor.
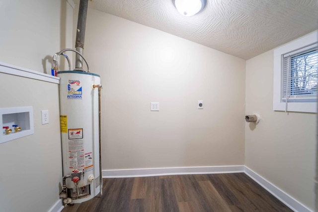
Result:
M292 212L244 173L103 179L103 196L62 212Z

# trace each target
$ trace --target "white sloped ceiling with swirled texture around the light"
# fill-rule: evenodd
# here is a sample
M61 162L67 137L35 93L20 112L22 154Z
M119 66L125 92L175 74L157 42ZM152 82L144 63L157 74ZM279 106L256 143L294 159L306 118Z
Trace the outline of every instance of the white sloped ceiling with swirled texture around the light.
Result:
M207 0L191 17L172 0L93 0L89 7L242 59L318 29L318 0Z

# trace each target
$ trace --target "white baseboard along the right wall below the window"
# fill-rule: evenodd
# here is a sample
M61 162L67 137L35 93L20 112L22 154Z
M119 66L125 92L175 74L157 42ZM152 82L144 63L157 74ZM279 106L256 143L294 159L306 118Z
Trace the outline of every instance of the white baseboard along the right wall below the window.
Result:
M266 189L269 193L275 196L278 200L284 203L287 207L289 207L294 212L312 212L306 206L292 198L290 195L276 187L271 182L267 181L265 178L261 177L256 172L252 171L248 167L245 166L245 174L247 174L250 178L252 178L256 183Z

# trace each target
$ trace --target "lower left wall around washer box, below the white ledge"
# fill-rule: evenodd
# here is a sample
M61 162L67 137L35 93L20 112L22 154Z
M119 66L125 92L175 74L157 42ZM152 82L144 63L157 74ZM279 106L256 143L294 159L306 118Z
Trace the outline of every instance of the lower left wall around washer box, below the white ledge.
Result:
M33 135L0 143L0 211L48 211L62 181L59 85L5 73L0 85L11 87L1 92L0 108L33 106L34 113ZM49 124L42 125L41 110L49 110Z

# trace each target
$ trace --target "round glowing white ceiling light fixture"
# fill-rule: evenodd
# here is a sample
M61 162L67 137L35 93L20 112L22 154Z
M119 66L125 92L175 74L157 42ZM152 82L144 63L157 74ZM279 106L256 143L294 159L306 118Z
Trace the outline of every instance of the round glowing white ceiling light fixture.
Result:
M184 16L192 16L202 11L207 0L173 0L175 8Z

